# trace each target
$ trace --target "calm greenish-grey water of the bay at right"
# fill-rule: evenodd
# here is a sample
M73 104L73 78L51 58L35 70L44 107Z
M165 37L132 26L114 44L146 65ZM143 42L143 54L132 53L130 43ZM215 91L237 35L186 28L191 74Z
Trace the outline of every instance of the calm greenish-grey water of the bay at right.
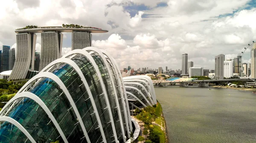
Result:
M256 143L256 94L202 87L155 87L170 143Z

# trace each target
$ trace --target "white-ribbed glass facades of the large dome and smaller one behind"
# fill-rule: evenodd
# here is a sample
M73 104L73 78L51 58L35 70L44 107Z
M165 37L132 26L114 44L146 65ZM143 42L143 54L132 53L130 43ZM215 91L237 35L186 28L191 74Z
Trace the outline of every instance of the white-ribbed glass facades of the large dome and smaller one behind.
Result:
M11 121L0 121L0 143L57 140L60 143L124 143L128 140L125 136L129 136L128 130L132 127L124 90L150 106L147 100L151 99L151 89L144 82L138 82L140 86L125 84L134 88L122 87L118 68L109 59L112 57L88 52L71 51L20 89L0 111L0 118L9 117L18 123L15 126Z

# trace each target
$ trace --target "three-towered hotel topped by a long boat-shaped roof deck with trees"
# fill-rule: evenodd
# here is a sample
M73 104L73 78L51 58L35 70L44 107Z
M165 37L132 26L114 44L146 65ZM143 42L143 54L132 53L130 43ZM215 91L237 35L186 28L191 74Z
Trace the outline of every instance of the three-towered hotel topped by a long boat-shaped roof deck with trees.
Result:
M55 59L61 58L62 32L72 32L72 50L90 47L91 33L105 33L106 30L92 27L70 28L61 26L33 27L16 29L17 55L9 80L26 79L29 72L34 71L35 64L35 33L41 33L41 58L39 71Z

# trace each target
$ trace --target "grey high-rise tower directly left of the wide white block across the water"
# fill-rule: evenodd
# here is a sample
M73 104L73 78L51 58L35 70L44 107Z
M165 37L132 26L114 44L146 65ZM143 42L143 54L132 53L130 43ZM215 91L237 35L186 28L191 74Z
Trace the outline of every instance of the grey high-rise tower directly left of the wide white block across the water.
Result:
M223 54L215 56L215 79L224 79L224 60Z

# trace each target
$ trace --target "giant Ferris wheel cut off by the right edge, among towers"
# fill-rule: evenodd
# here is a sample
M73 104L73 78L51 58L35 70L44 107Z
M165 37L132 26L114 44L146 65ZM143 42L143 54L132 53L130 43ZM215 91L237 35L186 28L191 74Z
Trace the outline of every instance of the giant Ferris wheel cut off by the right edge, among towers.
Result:
M245 47L241 53L241 61L239 61L239 64L241 66L240 76L255 81L256 42L253 41L251 44L248 44L247 47Z

